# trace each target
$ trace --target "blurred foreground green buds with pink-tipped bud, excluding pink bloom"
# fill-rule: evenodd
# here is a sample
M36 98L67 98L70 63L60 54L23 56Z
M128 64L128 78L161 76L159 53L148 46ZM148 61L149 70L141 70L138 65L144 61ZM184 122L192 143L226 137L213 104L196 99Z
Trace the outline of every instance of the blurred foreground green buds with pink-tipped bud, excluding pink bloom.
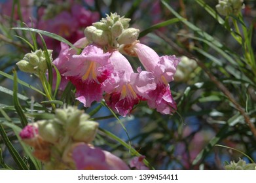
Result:
M73 148L92 142L98 130L98 123L89 117L76 107L58 108L54 118L24 127L20 137L46 169L75 169Z

